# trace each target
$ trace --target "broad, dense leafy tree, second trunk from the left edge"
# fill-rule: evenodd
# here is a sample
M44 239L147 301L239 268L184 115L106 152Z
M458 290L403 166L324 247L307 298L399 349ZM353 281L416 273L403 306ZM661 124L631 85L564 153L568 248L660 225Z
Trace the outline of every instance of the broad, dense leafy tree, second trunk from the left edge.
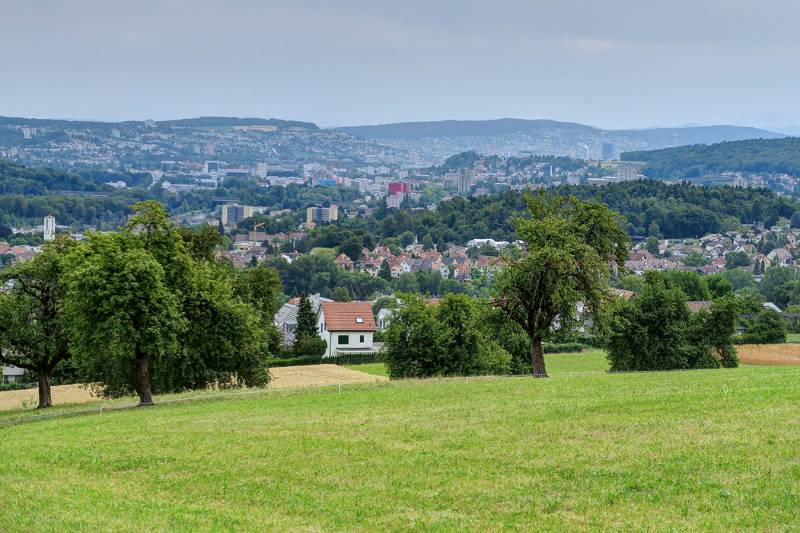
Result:
M128 234L93 234L67 274L72 351L105 394L153 403L150 365L177 350L180 303L159 262Z

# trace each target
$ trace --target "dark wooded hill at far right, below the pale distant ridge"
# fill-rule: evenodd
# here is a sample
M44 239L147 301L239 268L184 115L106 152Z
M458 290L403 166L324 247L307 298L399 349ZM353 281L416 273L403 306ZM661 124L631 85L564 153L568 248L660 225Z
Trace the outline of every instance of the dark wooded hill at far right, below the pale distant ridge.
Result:
M695 178L728 170L800 176L800 137L625 152L621 159L646 162L644 174L655 179Z

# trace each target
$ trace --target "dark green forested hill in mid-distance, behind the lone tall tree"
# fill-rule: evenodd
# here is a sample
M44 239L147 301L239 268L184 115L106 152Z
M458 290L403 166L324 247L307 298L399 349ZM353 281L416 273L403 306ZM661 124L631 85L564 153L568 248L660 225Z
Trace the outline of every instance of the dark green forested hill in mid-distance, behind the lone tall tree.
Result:
M734 229L742 223L773 225L790 218L800 204L762 189L706 188L689 184L667 185L657 181L625 182L605 187L565 186L556 189L579 198L599 198L619 211L631 235L665 238L699 237ZM366 222L365 229L382 238L410 231L422 239L430 234L434 243L466 243L473 238L511 240L513 215L524 209L523 195L507 192L480 198L454 198L436 211L381 208ZM365 222L352 219L351 224Z

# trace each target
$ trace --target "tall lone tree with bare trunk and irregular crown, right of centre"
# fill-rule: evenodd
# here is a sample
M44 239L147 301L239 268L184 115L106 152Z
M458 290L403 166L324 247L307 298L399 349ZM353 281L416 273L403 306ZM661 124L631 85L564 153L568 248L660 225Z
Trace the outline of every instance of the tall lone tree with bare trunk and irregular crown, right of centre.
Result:
M526 202L528 216L514 220L522 249L501 258L496 301L530 337L533 375L546 377L542 339L556 319L569 326L579 302L590 310L604 304L612 265L627 258L628 237L599 201L541 193Z

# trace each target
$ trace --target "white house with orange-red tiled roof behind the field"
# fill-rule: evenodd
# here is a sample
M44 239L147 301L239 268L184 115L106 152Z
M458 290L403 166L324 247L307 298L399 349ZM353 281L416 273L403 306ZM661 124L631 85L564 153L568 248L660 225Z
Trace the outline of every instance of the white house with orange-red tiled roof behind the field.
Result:
M372 334L377 329L368 302L322 302L317 313L317 331L327 343L323 357L371 353Z

